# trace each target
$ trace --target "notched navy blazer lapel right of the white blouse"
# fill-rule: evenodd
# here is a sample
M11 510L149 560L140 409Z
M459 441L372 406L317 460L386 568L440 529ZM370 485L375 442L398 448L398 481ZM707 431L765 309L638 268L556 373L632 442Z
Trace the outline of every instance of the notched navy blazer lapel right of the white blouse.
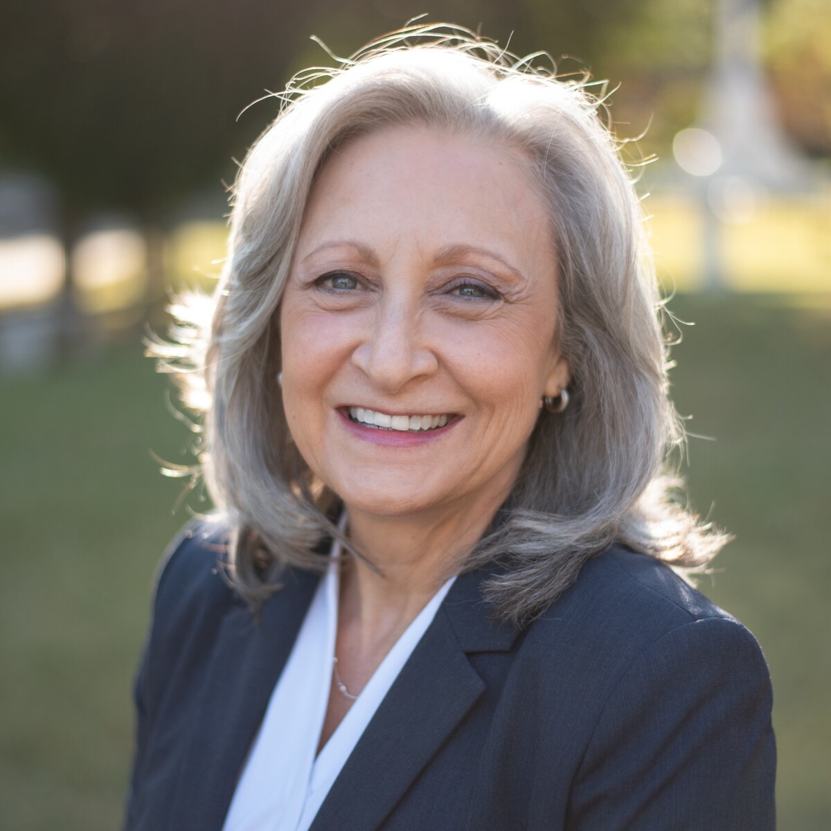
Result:
M310 831L371 831L395 807L475 705L485 683L468 652L505 651L517 631L490 622L479 596L486 575L461 575L381 701L317 812ZM356 794L371 787L365 799Z

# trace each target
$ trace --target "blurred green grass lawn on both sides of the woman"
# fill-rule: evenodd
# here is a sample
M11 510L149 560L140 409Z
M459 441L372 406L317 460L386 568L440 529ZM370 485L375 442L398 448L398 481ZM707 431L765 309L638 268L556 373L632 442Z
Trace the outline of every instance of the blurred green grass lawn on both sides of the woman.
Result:
M770 661L779 823L831 827L831 319L745 295L679 297L674 391L692 501L735 534L701 588ZM138 343L60 373L0 378L0 827L120 824L130 681L155 563L187 519L165 379Z

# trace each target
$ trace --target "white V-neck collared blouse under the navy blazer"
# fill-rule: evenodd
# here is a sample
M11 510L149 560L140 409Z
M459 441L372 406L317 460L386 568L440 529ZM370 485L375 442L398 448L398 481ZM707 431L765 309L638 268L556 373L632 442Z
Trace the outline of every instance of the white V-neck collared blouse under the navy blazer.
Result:
M332 685L339 543L278 679L223 831L307 831L337 774L424 635L455 578L411 622L315 756Z

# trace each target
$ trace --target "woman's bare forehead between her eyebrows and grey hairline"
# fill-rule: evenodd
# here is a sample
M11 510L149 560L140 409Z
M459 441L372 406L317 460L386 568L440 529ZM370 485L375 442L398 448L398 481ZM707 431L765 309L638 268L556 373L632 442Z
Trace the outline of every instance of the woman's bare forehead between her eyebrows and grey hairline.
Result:
M437 245L489 238L553 249L548 206L530 162L504 142L421 125L361 135L325 162L301 245L386 229Z

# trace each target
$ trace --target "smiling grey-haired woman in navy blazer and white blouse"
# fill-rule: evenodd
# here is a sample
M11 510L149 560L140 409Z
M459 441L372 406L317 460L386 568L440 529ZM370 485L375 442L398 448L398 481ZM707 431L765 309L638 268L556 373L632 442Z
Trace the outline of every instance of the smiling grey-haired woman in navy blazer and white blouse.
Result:
M773 827L764 658L676 575L723 538L668 496L637 197L512 61L411 28L243 165L154 347L218 514L160 574L129 829Z

